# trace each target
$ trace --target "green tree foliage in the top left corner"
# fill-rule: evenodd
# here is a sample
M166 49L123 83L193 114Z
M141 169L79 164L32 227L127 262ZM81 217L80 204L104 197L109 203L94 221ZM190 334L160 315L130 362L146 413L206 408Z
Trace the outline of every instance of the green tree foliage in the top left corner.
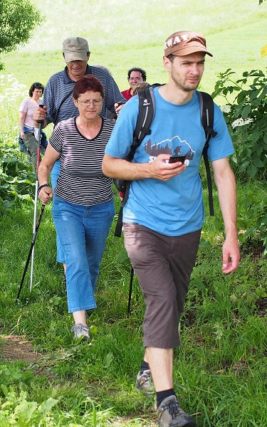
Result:
M27 43L43 18L29 0L0 1L0 55ZM0 62L0 70L4 64Z

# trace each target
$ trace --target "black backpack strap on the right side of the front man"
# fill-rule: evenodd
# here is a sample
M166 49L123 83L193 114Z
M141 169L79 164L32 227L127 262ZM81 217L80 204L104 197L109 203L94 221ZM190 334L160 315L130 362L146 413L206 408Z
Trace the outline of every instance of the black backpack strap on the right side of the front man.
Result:
M209 191L209 214L214 216L214 204L213 204L213 195L212 195L212 182L211 182L211 169L209 166L208 159L208 148L209 141L211 137L216 137L217 132L214 131L214 101L209 95L209 93L201 92L200 90L196 90L197 95L199 97L199 105L200 105L200 117L201 123L204 128L206 142L204 145L204 149L202 152L202 156L204 159L204 164L206 168L206 179L208 183L208 191Z

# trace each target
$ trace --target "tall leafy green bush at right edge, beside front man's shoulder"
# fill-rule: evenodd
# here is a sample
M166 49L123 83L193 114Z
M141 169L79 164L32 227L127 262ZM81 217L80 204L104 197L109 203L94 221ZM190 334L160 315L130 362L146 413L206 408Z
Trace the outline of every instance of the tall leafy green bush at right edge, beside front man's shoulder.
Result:
M239 179L266 178L267 165L267 77L261 70L245 71L243 78L234 80L229 68L219 75L212 97L226 100L224 117L229 125L236 154ZM251 81L252 80L252 81ZM229 95L234 94L234 102Z

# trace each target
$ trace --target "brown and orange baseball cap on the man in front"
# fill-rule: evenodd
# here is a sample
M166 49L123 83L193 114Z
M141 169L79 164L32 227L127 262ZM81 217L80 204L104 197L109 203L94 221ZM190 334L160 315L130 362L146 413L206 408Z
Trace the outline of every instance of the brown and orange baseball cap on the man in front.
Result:
M206 50L204 36L193 31L177 31L171 34L164 43L164 56L168 56L171 53L175 56L184 56L195 52L203 52L213 56Z

